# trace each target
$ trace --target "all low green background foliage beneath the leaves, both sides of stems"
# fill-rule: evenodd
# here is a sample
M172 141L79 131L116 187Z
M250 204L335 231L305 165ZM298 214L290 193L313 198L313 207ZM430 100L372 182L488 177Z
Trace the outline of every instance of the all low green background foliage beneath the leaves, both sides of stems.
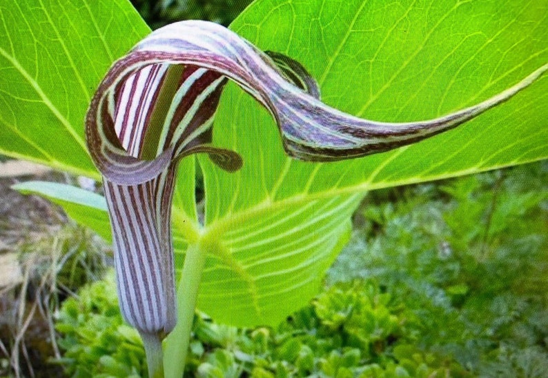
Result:
M544 377L547 182L534 163L371 193L311 304L275 328L199 313L188 375ZM109 292L112 275L61 309L70 372L144 372Z

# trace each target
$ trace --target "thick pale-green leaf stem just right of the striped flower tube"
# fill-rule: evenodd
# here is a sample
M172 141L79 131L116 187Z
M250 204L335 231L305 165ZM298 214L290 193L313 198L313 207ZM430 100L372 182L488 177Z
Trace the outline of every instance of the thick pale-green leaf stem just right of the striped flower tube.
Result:
M197 244L186 250L183 272L177 289L177 325L166 338L164 370L166 378L181 378L190 341L199 281L206 260L206 251Z

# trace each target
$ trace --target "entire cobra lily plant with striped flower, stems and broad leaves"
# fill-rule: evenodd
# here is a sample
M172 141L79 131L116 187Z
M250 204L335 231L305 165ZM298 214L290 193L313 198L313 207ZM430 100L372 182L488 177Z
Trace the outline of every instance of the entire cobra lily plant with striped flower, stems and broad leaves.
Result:
M2 81L10 86L0 152L104 179L119 299L146 339L151 371L162 370L161 339L175 326L174 268L179 323L164 363L178 377L195 303L221 321L276 324L317 292L366 190L547 156L539 125L548 119L542 1L527 12L517 3L498 12L496 1L480 9L436 1L427 12L411 3L317 0L274 11L257 1L231 26L241 37L190 22L145 39L149 30L127 1L82 4L0 6ZM37 8L43 12L31 12ZM212 136L226 77L252 96L226 88ZM320 88L326 103L352 115L320 102ZM283 145L255 100L275 116ZM461 130L407 146L464 121ZM284 154L331 161L403 145L332 164ZM189 157L196 152L211 157L199 158L203 216ZM235 173L214 166L234 170L242 161ZM110 238L105 199L42 183L18 188L61 203Z

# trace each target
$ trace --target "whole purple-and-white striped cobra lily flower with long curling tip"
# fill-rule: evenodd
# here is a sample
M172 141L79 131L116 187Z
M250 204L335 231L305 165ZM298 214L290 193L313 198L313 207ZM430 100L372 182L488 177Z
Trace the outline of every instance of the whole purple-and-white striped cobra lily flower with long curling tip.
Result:
M271 112L288 155L335 161L455 128L509 99L547 69L543 66L505 92L453 114L386 123L327 106L300 63L262 52L215 23L183 21L156 30L114 63L86 117L90 155L104 178L122 314L145 344L156 348L175 326L170 207L177 162L203 152L225 170L242 166L236 152L211 145L213 118L227 79Z

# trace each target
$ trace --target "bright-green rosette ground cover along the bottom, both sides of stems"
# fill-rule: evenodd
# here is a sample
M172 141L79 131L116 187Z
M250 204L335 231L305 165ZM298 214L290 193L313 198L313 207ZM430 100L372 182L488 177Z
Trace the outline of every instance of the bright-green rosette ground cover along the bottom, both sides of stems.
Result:
M57 316L57 361L72 377L146 376L139 334L123 324L113 272L68 299ZM465 375L451 357L413 346L416 317L374 280L336 284L276 329L193 323L189 377Z

